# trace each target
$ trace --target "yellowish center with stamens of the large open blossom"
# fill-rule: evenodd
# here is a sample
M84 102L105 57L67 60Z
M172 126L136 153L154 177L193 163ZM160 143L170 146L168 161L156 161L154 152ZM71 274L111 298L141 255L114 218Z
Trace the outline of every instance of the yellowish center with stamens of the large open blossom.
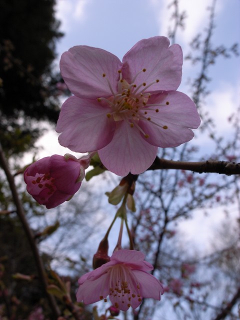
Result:
M145 138L148 138L149 135L147 132L144 132L143 129L138 124L139 120L149 121L153 125L167 129L167 125L156 123L151 119L148 114L148 111L159 112L160 106L166 106L169 104L168 101L165 103L153 103L149 104L147 101L150 98L150 93L147 93L146 90L153 84L159 82L158 79L151 83L142 82L138 86L134 83L136 77L141 73L145 72L146 69L143 68L133 77L132 83L128 83L125 79L122 79L121 70L118 70L119 80L117 84L117 91L114 92L112 89L109 80L106 77L106 74L103 73L102 76L106 79L107 84L110 88L112 96L109 98L99 97L98 102L105 101L111 108L111 111L106 115L108 118L113 117L114 121L127 121L130 127L137 127L137 129L144 135Z

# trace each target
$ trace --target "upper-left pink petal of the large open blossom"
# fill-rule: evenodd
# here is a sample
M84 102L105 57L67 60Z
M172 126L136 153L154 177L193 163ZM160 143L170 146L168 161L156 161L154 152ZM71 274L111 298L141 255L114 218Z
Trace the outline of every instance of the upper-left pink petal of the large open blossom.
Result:
M69 90L89 99L112 95L106 79L115 91L121 65L114 54L86 45L73 46L60 59L61 75Z

